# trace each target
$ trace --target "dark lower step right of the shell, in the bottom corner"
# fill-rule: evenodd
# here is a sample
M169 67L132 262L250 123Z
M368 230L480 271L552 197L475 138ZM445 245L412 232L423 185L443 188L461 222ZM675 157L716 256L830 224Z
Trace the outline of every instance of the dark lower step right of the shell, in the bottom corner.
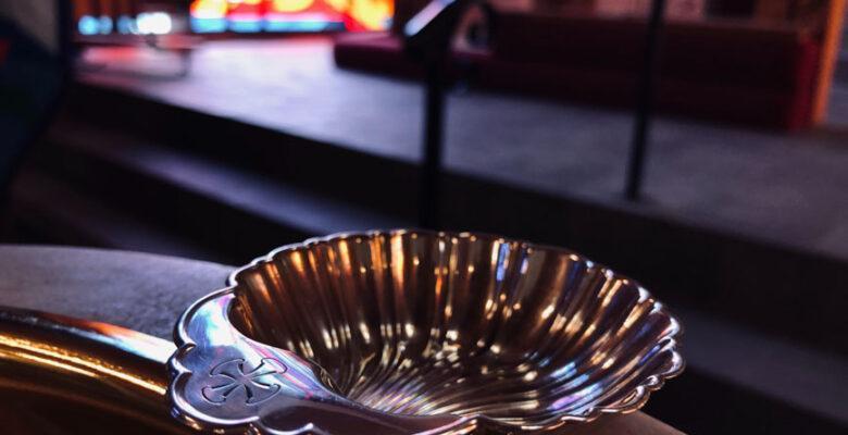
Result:
M848 359L697 310L673 309L687 368L647 410L689 433L840 434Z

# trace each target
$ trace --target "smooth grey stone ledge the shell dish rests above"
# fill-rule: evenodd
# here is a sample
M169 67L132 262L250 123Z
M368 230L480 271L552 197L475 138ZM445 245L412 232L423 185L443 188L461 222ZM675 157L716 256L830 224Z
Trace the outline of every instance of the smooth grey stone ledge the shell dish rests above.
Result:
M99 249L7 245L0 246L0 304L112 323L167 339L183 310L223 287L234 269ZM563 434L681 434L641 412L568 427Z

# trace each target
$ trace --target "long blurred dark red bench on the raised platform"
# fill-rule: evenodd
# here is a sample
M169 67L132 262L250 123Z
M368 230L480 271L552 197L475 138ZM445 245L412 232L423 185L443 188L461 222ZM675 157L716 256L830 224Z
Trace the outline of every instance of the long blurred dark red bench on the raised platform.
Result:
M406 11L399 3L398 13ZM497 8L497 7L496 7ZM400 21L400 20L399 20ZM821 42L812 24L755 20L669 21L661 51L661 111L799 129L813 123ZM458 48L457 65L483 88L631 107L645 20L581 10L500 8L487 50ZM342 35L339 66L421 74L391 33Z

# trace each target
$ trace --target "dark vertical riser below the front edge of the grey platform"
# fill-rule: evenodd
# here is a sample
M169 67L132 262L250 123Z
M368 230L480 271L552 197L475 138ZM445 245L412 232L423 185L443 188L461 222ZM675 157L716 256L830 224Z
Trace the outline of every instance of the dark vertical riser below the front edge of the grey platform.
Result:
M399 224L409 225L416 215L414 161L251 125L128 90L77 84L70 97L70 119L145 137L178 153L191 152L266 184L399 216ZM848 334L844 321L848 298L835 290L848 286L848 259L805 248L797 240L719 228L708 216L684 220L662 214L647 202L598 202L456 171L444 175L441 190L441 228L565 246L639 279L674 304L848 355L843 344Z

